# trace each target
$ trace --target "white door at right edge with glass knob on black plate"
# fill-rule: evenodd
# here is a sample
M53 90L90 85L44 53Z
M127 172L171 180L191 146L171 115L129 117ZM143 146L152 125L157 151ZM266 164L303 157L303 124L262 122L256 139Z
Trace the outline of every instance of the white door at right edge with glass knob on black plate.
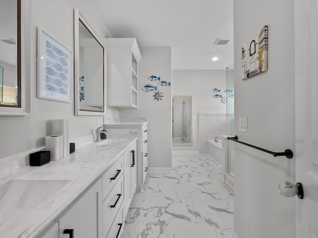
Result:
M318 0L294 0L294 13L296 238L318 238Z

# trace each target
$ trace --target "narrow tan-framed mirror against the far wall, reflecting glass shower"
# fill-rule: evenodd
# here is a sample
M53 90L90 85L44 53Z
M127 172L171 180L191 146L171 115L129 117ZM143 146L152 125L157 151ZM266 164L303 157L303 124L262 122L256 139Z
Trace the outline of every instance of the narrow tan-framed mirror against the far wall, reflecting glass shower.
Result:
M172 96L172 145L192 145L192 96Z

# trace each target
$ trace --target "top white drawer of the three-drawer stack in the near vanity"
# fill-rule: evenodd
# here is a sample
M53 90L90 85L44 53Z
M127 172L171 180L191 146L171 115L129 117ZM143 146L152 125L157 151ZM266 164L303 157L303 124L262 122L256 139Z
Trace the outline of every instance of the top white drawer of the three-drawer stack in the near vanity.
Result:
M109 170L103 175L103 201L110 192L110 190L115 186L118 179L124 173L124 156L121 156L118 161L113 164Z

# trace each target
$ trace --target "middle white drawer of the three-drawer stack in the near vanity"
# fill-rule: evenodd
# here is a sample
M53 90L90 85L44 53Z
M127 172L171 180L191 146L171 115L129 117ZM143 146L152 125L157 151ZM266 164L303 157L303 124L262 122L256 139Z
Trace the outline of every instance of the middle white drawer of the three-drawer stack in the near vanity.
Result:
M124 176L121 176L103 202L103 237L109 231L110 225L118 211L122 210L124 200Z

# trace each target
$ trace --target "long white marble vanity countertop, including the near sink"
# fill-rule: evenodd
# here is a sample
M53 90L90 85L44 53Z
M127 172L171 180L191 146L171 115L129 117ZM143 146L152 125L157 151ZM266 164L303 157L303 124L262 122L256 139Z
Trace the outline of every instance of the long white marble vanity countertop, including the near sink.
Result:
M4 193L0 198L0 237L35 238L136 140L108 138L90 143L59 161L27 167L0 179L0 192ZM7 194L10 197L6 198Z

